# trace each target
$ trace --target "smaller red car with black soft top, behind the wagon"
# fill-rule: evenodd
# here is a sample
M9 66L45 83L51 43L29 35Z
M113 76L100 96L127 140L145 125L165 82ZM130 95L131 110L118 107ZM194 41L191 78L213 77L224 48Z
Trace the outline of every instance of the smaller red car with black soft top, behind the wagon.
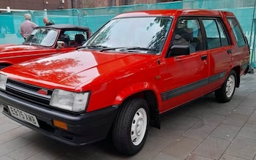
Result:
M90 35L90 29L82 26L38 26L22 45L0 45L0 69L22 61L75 50Z

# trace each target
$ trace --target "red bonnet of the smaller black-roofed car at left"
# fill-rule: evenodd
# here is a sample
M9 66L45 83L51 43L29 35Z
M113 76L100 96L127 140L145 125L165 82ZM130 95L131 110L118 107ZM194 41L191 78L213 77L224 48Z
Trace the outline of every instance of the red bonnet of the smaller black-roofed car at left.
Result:
M18 51L26 51L26 50L38 50L42 49L42 47L31 46L31 45L0 45L0 53L7 53L7 52L18 52Z

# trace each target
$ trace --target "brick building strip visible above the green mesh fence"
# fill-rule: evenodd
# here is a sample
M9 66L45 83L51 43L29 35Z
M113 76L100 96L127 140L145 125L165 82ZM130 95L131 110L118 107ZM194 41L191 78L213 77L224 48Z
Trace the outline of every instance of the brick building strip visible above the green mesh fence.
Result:
M111 7L132 4L152 4L177 0L0 0L0 11L7 10L53 10L71 8Z

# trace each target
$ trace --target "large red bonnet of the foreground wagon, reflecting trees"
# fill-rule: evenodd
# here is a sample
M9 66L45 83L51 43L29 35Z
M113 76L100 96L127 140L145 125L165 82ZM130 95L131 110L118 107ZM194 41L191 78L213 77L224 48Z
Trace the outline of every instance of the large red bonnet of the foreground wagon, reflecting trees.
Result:
M23 83L53 89L69 88L79 90L92 80L104 80L104 75L124 71L135 63L146 60L148 55L95 52L76 50L56 56L27 61L3 69L11 78ZM107 76L108 75L108 76Z

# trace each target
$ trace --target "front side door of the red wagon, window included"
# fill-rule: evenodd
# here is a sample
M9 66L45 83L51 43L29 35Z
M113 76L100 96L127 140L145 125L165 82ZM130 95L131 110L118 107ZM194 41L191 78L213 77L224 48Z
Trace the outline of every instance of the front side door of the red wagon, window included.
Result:
M207 92L209 60L203 50L200 18L179 18L170 47L189 45L189 55L173 56L166 62L166 91L162 93L163 110L202 96ZM182 54L182 53L181 53Z

